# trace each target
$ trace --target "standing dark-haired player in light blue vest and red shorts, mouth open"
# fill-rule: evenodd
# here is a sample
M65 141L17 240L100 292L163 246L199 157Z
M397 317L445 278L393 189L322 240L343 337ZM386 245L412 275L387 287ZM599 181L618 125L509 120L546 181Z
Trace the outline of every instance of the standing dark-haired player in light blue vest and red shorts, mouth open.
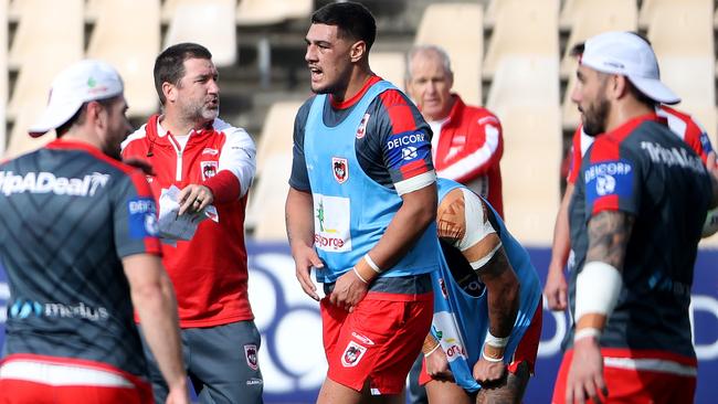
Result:
M369 67L371 13L331 2L305 41L312 91L297 111L287 234L304 291L321 299L328 371L317 403L403 403L430 330L439 267L431 129Z

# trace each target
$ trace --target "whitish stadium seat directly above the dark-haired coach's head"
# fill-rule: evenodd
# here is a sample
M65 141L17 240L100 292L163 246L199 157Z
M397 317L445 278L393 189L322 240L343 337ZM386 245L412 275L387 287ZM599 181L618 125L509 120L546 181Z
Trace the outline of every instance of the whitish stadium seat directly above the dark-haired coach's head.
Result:
M190 1L176 0L165 47L180 42L196 42L212 52L218 67L236 63L236 0ZM208 29L211 26L211 29Z

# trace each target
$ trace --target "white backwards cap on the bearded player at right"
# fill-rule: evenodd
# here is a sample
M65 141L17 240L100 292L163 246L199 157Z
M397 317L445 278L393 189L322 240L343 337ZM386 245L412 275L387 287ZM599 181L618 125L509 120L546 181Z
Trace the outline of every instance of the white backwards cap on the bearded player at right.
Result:
M651 45L632 32L605 32L585 41L581 64L603 73L621 74L648 98L678 104L678 97L661 83L658 61Z

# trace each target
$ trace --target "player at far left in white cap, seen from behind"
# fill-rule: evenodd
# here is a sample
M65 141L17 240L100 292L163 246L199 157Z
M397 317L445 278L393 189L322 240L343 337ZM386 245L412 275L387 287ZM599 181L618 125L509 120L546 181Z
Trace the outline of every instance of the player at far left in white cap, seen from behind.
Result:
M70 66L30 128L57 139L0 164L10 284L0 403L151 403L133 307L167 402L189 402L155 201L142 172L117 160L130 129L123 93L106 63Z

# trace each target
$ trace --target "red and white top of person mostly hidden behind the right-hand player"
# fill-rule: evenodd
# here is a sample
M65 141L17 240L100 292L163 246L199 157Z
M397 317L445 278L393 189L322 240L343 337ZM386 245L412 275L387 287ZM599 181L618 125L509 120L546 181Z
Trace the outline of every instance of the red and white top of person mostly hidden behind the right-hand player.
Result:
M706 130L690 115L677 109L661 105L656 107L656 115L664 119L678 138L685 141L690 148L700 156L703 162L706 162L708 153L712 151L710 139ZM569 173L567 181L576 182L579 169L581 168L581 158L593 142L593 137L583 132L583 126L579 126L573 134L571 143L571 162L569 163Z

